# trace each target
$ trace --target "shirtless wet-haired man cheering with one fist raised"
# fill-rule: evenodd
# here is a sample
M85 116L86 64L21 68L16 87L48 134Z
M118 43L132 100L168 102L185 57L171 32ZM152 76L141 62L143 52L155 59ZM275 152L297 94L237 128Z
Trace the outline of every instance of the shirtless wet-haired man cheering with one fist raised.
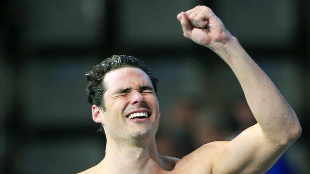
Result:
M208 7L177 18L185 37L214 51L235 73L258 123L182 159L162 156L154 138L161 115L157 80L138 60L114 56L87 74L93 120L103 125L107 145L104 159L82 173L264 173L300 136L292 108Z

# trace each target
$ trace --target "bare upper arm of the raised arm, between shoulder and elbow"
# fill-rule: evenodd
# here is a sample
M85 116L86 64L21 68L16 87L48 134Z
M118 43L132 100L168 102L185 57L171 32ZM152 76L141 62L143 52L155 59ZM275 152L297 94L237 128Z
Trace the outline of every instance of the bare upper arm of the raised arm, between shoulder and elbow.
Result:
M259 124L255 124L218 148L213 173L263 173L284 150L285 147L270 141Z

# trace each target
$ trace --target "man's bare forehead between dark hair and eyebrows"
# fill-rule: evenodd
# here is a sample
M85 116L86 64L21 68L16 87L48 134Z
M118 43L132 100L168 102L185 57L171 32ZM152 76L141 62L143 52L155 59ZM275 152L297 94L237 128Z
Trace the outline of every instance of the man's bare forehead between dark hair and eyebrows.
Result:
M152 87L148 75L139 68L124 67L108 72L104 79L103 85L107 90L128 88L141 85Z

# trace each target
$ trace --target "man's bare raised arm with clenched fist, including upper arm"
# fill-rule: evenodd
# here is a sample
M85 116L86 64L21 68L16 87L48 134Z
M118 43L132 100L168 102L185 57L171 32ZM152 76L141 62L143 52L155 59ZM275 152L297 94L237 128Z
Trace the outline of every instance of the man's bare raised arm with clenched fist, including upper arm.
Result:
M186 38L214 51L235 73L258 122L229 142L215 143L212 172L263 173L300 136L295 112L211 9L197 6L177 18Z

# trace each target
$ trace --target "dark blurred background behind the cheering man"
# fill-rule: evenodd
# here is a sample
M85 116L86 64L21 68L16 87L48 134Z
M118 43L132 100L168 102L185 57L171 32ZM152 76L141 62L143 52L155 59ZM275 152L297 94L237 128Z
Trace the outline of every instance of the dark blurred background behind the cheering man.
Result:
M300 119L301 137L269 173L309 171L309 1L25 0L0 3L0 172L76 173L102 160L85 72L114 54L145 61L160 79L164 155L255 124L228 66L183 37L176 16L197 5L214 11Z

